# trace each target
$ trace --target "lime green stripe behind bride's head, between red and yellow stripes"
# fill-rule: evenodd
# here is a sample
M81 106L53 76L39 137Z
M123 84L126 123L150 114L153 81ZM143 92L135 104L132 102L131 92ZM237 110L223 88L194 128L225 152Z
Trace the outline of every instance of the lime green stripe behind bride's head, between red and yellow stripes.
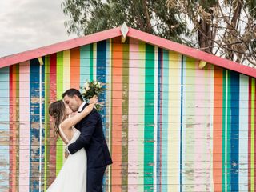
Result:
M56 86L57 86L57 99L62 98L63 93L63 52L57 53L57 74L56 74ZM61 170L63 164L63 142L62 139L58 138L56 142L56 175Z

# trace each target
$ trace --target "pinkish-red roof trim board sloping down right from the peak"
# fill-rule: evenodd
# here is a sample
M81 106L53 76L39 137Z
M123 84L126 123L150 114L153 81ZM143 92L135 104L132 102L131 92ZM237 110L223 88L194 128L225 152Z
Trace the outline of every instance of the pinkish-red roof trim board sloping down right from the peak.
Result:
M129 36L131 38L139 39L143 42L157 45L166 50L173 50L180 54L184 54L190 58L196 58L198 60L202 60L202 61L214 64L215 66L221 66L228 70L234 70L241 74L247 74L247 75L250 75L251 77L256 78L256 69L255 68L252 68L249 66L243 66L242 64L239 64L238 62L232 62L228 59L220 58L213 54L207 54L206 52L203 52L201 50L196 50L196 49L188 47L188 46L183 46L177 42L171 42L169 40L166 40L165 38L159 38L157 36L154 36L153 34L147 34L140 30L134 30L134 29L130 28L127 36Z

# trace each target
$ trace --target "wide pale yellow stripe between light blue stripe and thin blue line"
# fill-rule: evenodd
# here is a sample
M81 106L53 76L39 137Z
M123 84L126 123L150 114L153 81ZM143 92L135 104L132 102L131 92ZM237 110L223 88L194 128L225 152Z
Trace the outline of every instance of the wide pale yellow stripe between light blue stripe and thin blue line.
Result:
M168 127L168 191L178 191L179 188L179 150L180 150L180 116L181 116L181 56L169 52L169 127ZM162 103L164 106L165 104Z

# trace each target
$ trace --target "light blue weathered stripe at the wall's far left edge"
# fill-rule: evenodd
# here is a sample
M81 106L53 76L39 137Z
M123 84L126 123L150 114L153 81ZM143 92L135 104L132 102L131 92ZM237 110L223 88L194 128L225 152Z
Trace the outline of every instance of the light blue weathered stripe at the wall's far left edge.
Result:
M10 134L10 70L9 67L4 67L0 69L0 127L2 134L0 134L0 139L2 141L6 140L6 137ZM0 159L0 183L2 189L9 188L9 177L10 174L10 147L7 143L0 145L1 159Z

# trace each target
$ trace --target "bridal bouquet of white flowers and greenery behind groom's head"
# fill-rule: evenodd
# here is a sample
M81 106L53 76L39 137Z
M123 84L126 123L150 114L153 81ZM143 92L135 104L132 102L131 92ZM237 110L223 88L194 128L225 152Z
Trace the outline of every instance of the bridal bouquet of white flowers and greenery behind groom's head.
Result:
M103 84L98 81L86 81L82 87L82 98L88 102L90 98L94 97L94 95L99 96L104 92ZM97 103L95 105L96 110L102 110L103 104Z

